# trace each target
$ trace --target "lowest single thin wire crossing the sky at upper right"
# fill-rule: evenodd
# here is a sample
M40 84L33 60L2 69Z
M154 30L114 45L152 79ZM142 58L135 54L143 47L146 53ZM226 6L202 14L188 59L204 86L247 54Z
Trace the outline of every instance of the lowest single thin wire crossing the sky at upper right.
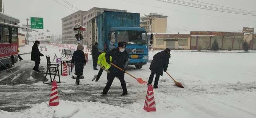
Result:
M227 18L227 17L212 16L212 15L205 15L205 14L200 14L200 13L192 13L192 12L186 12L186 11L173 10L173 9L168 9L168 8L164 8L164 7L158 7L158 6L148 5L148 4L141 4L141 3L126 1L126 0L122 0L122 1L129 2L129 3L134 3L134 4L145 5L145 6L150 6L150 7L155 7L155 8L160 8L160 9L166 9L166 10L172 10L172 11L178 11L178 12L196 14L196 15L201 15L201 16L210 16L210 17L216 17L216 18ZM253 21L253 20L238 19L238 18L227 18L227 19L234 19L234 20L242 20L242 21L256 22L256 21Z

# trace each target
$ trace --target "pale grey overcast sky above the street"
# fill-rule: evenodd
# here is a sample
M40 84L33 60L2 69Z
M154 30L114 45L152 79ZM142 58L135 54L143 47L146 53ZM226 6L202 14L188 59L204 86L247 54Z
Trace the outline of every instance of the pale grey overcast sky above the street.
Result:
M63 0L57 0L70 9L75 10ZM167 15L167 33L186 34L189 31L238 31L243 26L256 29L256 16L223 13L218 11L191 8L176 4L163 3L156 0L66 0L78 9L88 11L92 7L127 10L143 14L164 13ZM128 2L127 2L128 1ZM130 1L130 2L129 2ZM193 2L190 0L183 0ZM256 0L198 0L210 4L222 5L248 11L256 11ZM44 18L44 30L49 35L61 34L61 18L74 11L57 3L55 0L4 0L4 13L20 19L20 26L26 24L26 18ZM189 13L188 13L189 12ZM199 15L200 14L200 15ZM30 23L29 23L30 24ZM255 31L255 30L254 30ZM22 32L21 32L22 33ZM25 33L25 32L23 32ZM37 33L33 33L33 36ZM44 35L45 35L44 34Z

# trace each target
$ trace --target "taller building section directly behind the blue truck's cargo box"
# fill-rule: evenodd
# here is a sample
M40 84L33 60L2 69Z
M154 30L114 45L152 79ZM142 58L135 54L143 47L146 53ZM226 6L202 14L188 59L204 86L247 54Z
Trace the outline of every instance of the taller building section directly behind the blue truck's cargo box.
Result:
M94 17L102 13L103 11L117 11L117 12L127 12L126 10L117 10L117 9L107 9L107 8L98 8L98 7L93 7L92 9L88 10L87 12L83 13L83 26L85 27L85 31L83 32L83 37L85 39L86 44L88 44L88 38L90 38L92 35L91 33L87 33L87 28L92 28L87 22L92 20ZM94 21L96 22L96 21ZM97 28L94 28L95 30ZM94 31L94 33L97 33L97 31ZM88 36L90 34L90 36ZM91 44L91 43L89 43ZM90 47L90 46L89 46Z

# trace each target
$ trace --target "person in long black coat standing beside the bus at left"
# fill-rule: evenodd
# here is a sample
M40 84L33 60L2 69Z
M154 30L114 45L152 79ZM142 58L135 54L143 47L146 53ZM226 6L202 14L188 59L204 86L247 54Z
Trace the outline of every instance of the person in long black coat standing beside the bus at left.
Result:
M36 72L40 72L39 71L39 64L40 64L40 56L44 56L42 53L39 52L38 46L40 44L40 41L35 41L34 45L32 46L32 51L31 51L31 60L35 62L35 66L33 68L33 70L35 70Z

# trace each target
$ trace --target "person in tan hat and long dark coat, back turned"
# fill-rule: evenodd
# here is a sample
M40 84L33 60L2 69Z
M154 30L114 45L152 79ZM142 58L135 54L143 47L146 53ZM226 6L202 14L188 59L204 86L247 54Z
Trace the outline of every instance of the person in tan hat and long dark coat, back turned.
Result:
M76 85L79 85L80 77L83 75L84 66L86 65L85 56L84 56L84 46L81 44L77 45L76 51L74 51L71 63L75 65L76 71Z

